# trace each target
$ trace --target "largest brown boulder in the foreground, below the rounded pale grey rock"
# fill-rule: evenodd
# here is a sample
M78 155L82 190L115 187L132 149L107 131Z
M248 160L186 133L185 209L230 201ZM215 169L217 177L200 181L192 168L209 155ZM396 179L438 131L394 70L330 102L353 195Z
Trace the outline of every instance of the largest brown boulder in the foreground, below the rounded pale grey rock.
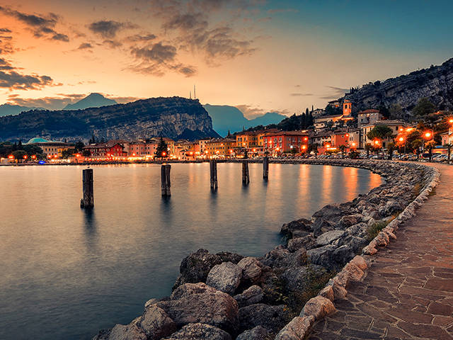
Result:
M190 323L210 324L235 333L238 328L238 304L230 295L205 283L185 283L170 296L170 300L156 303L176 323L183 327Z

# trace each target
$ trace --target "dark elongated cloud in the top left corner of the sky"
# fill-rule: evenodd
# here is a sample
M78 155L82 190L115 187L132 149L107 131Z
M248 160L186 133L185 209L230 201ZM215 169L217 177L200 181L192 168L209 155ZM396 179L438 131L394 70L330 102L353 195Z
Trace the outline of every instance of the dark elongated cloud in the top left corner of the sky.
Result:
M0 6L0 12L24 23L32 30L33 35L35 35L36 38L47 37L51 40L69 42L69 37L66 34L59 33L55 30L55 26L59 21L59 16L55 13L48 13L46 16L38 16L36 14L27 14L16 11L4 6Z

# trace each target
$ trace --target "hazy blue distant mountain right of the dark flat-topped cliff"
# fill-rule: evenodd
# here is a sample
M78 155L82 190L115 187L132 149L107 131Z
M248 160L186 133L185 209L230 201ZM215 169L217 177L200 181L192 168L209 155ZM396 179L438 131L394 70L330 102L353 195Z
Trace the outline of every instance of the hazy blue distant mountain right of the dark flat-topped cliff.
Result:
M280 113L269 112L249 120L244 117L239 108L234 106L205 104L204 108L212 118L212 128L222 136L226 136L228 131L234 133L256 125L277 124L286 118L285 115L280 115Z

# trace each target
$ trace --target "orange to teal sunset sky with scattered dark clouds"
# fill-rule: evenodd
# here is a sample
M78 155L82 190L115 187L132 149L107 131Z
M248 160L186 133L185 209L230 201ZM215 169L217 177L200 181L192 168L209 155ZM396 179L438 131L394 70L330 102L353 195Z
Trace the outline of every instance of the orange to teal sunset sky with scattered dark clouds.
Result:
M452 12L435 0L0 0L0 104L195 85L201 103L248 118L291 115L453 57Z

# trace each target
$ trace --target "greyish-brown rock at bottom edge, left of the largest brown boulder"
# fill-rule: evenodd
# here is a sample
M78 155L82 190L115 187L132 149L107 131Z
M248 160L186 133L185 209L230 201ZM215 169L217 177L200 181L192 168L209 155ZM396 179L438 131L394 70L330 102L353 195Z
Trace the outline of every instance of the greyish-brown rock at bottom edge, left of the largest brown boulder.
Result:
M176 331L176 324L166 312L156 305L151 305L140 317L138 325L147 334L148 340L159 340Z

